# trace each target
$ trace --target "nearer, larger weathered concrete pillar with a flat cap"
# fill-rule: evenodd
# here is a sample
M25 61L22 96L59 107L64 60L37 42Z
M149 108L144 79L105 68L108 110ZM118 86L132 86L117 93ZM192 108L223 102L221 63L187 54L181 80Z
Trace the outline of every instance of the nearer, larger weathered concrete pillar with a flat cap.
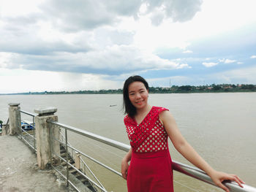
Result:
M42 107L34 112L38 115L35 117L36 135L37 135L37 163L39 169L45 169L50 164L50 132L52 138L59 139L59 128L51 126L48 120L58 121L58 116L54 115L57 111L55 107ZM52 150L60 155L59 142L53 140ZM59 158L53 155L55 161Z

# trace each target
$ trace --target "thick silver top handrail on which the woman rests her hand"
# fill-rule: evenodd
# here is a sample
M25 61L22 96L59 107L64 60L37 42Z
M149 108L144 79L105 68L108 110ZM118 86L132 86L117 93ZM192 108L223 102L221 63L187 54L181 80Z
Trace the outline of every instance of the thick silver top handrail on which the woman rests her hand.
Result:
M97 134L92 134L89 131L84 131L84 130L81 130L79 128L75 128L75 127L72 127L72 126L67 126L63 123L58 123L58 122L54 122L54 121L50 121L50 123L52 123L53 125L65 128L68 131L72 131L72 132L75 132L77 134L83 135L85 137L89 137L91 139L94 139L94 140L97 140L99 142L105 143L105 144L110 145L112 147L116 147L120 150L124 150L124 151L128 152L129 149L130 149L129 145L126 145L126 144L121 143L121 142L117 142L113 139L108 139L106 137L99 136ZM194 177L197 180L201 180L204 183L209 183L211 185L214 185L214 186L218 187L217 185L214 184L214 182L211 180L211 178L205 172L203 172L200 169L197 169L196 167L188 166L186 164L181 164L177 161L173 161L173 169L176 170L177 172L181 172L181 173L186 174L190 177ZM119 172L116 172L114 170L113 170L113 172L115 172L116 174L121 176L121 174ZM256 188L254 188L252 186L243 184L244 188L241 188L237 183L235 183L233 181L232 182L224 181L223 184L226 185L227 188L230 189L230 192L256 192Z

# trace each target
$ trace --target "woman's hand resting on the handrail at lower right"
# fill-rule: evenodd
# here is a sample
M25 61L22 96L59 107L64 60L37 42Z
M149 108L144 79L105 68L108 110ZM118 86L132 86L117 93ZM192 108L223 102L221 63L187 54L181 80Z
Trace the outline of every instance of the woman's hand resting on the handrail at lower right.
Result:
M211 177L211 180L213 180L213 182L219 186L220 188L222 188L224 191L226 192L230 192L229 189L222 184L222 181L224 180L233 180L236 181L236 183L238 183L238 185L243 188L244 181L241 180L236 174L227 174L224 172L217 172L214 171L211 173L211 175L209 175Z

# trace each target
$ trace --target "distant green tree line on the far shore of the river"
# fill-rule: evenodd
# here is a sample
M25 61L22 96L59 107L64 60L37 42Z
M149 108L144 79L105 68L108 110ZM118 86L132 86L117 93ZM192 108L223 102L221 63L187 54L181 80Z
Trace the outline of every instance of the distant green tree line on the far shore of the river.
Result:
M12 93L24 95L36 94L120 94L122 89L108 89L99 91L43 91L43 92L27 92L27 93ZM150 87L149 93L227 93L227 92L256 92L256 85L252 84L219 84L219 85L173 85L171 87Z

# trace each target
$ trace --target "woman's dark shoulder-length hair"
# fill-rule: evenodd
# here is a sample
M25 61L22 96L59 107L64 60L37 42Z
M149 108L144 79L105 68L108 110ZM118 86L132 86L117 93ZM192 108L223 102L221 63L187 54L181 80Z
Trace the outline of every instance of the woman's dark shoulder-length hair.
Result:
M139 75L131 76L124 82L124 88L123 88L124 114L128 114L130 117L135 116L136 108L132 105L131 101L129 101L128 88L129 88L129 84L135 81L143 82L143 84L146 87L146 90L148 90L148 82L146 82L146 80L143 77L140 77Z

